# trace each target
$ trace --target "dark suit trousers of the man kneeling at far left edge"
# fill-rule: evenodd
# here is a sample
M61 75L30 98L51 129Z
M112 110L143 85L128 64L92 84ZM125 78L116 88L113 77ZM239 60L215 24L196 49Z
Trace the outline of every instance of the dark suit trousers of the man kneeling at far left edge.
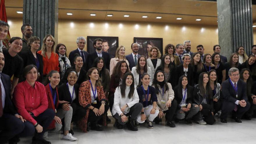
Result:
M19 118L4 113L0 118L0 143L7 143L9 139L20 134L24 128L25 125Z

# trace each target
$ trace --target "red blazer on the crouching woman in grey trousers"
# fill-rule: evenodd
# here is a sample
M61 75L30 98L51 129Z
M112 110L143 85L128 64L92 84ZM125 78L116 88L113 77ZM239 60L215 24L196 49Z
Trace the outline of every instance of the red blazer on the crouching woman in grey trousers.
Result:
M54 102L53 102L53 99L52 99L51 89L50 89L49 83L45 86L45 90L46 90L46 95L47 95L47 99L48 99L48 109L53 109L55 111L55 109L58 108L58 105L59 105L58 88L56 87L56 93L57 93L56 107L54 106ZM47 129L54 129L54 128L55 128L55 120L52 120L51 124L49 125L49 127Z

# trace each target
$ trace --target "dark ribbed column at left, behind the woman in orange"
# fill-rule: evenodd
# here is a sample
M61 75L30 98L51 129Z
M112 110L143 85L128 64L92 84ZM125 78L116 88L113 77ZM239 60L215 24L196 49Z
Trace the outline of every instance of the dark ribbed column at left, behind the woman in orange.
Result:
M54 36L58 43L58 0L23 0L23 24L30 24L33 36L42 40Z

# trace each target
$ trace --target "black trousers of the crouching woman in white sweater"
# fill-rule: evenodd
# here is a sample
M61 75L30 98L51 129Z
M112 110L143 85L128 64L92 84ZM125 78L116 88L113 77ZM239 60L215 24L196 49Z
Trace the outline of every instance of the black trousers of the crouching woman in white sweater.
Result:
M129 113L126 114L126 116L131 115L131 119L135 120L137 118L137 116L141 113L141 110L143 108L143 105L141 103L136 103L134 104L131 108ZM121 125L125 125L127 122L122 122L122 118L118 113L115 113L115 115L113 115L113 117L118 121L118 123L120 123Z

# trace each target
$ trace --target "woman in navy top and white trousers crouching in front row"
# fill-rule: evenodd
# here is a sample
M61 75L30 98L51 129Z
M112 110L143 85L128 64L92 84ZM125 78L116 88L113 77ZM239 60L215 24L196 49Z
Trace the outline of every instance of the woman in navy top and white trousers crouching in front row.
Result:
M150 75L144 73L141 75L141 85L138 86L137 92L139 95L139 102L143 104L141 114L137 117L138 123L144 123L148 117L148 128L153 129L153 120L157 117L159 110L157 109L157 95L155 88L149 86Z

